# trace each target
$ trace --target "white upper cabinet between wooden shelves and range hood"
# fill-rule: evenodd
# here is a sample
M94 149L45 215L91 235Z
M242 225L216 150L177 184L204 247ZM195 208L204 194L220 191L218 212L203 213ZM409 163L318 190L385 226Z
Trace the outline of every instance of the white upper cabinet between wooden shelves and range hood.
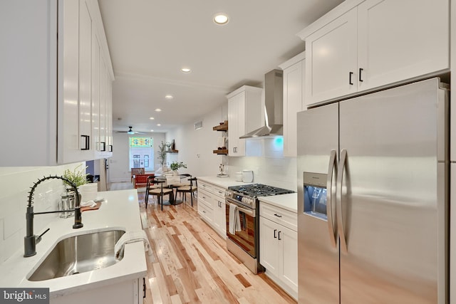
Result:
M261 127L262 91L262 88L244 85L227 95L229 156L245 156L245 140L239 137Z

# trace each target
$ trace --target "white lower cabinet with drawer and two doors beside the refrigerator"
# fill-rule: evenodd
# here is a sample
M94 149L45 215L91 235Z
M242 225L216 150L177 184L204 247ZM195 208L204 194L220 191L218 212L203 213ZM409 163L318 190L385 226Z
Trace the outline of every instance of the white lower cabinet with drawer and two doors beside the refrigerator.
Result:
M297 214L261 201L259 215L260 263L267 276L297 299Z

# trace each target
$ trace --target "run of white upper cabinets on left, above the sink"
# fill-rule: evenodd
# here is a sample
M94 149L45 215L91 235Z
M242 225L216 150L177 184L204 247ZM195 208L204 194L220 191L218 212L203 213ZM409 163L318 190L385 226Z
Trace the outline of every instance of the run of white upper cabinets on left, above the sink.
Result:
M100 57L106 66L104 88L110 88L113 80L98 2L32 2L26 6L18 1L0 2L0 38L4 41L0 127L14 130L0 135L5 145L0 152L0 166L95 159L94 32L101 37ZM110 127L104 125L103 129Z

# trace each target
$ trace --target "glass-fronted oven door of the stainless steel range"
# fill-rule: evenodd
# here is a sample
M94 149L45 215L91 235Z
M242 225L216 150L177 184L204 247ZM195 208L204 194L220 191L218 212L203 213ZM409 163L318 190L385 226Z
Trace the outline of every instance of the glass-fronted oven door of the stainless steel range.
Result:
M227 237L231 241L241 247L245 252L249 253L252 258L257 258L257 225L255 224L255 209L249 209L246 206L237 204L236 201L226 198L227 210ZM241 230L235 231L234 234L229 233L229 205L235 204L239 210L239 219L241 223Z

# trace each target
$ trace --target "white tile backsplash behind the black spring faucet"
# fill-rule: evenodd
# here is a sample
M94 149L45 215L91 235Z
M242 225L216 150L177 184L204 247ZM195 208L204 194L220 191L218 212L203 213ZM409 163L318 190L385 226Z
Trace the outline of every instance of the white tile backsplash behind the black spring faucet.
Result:
M33 184L49 175L61 176L66 169L73 170L79 165L80 162L56 167L0 167L0 263L24 248L26 206L28 192ZM49 179L39 184L33 195L34 211L58 210L63 189L61 179ZM34 233L41 234L46 229L46 223L57 219L58 216L35 216Z

